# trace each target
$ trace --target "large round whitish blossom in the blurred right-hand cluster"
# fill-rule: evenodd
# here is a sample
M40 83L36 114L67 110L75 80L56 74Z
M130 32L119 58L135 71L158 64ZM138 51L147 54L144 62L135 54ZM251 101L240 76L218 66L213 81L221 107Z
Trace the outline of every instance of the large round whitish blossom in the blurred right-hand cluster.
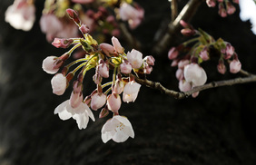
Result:
M190 63L184 67L184 78L186 82L192 82L192 86L203 85L207 80L205 71L197 63Z

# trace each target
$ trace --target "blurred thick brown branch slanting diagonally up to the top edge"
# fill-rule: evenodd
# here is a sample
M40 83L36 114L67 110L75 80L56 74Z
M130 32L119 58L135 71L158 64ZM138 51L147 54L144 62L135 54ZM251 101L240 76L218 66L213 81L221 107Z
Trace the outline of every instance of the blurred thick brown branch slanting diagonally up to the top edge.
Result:
M201 3L202 0L190 0L188 4L183 7L176 19L168 24L167 32L162 37L159 37L157 43L154 44L153 53L161 54L170 47L175 39L175 34L180 33L182 29L182 26L179 24L180 21L184 20L185 22L189 22Z

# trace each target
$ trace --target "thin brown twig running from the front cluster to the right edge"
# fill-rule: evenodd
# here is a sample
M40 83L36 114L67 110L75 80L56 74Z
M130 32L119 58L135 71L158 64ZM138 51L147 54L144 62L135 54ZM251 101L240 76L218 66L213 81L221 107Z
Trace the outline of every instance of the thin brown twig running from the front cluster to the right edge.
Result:
M239 77L239 78L235 78L235 79L231 79L231 80L210 82L210 83L206 83L202 86L194 87L194 88L192 88L191 91L188 91L188 92L175 92L175 91L165 88L164 86L162 86L162 84L160 82L152 82L147 79L143 80L143 79L139 79L139 78L135 77L135 81L140 84L143 84L147 87L159 90L167 95L173 96L175 99L184 99L184 98L187 98L190 95L192 95L192 93L194 93L194 92L201 92L203 90L212 89L212 88L221 87L221 86L230 86L233 84L256 82L256 75L251 74L250 76L243 77L243 78Z

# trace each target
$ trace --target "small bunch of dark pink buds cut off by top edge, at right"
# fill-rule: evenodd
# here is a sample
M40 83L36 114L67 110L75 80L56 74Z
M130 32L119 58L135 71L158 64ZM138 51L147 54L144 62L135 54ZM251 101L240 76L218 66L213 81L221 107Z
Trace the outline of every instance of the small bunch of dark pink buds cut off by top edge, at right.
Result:
M231 4L229 0L217 0L219 3L219 15L222 17L226 17L227 15L232 15L236 9L234 5ZM215 7L216 5L216 0L206 0L206 4L209 7ZM239 4L239 0L232 0L233 3Z

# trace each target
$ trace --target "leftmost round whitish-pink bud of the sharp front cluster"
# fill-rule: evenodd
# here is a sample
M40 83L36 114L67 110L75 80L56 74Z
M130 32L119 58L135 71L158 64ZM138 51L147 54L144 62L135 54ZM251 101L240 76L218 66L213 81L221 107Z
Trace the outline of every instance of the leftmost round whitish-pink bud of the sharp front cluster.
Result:
M45 73L54 74L59 71L60 66L63 63L58 60L56 56L48 56L44 59L42 63L42 68Z

